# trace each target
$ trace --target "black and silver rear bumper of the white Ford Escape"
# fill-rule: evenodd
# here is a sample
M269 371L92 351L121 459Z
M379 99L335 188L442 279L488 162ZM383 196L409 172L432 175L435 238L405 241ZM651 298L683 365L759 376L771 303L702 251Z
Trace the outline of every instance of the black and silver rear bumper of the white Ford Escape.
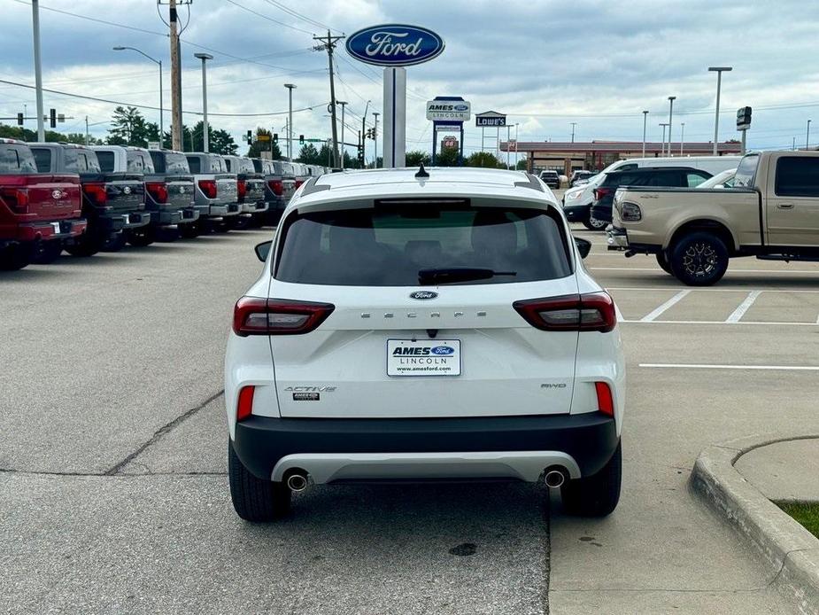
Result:
M281 479L289 468L300 467L312 469L315 482L536 480L549 465L561 465L571 478L595 474L618 442L614 419L592 412L429 419L251 416L236 424L233 446L260 479Z

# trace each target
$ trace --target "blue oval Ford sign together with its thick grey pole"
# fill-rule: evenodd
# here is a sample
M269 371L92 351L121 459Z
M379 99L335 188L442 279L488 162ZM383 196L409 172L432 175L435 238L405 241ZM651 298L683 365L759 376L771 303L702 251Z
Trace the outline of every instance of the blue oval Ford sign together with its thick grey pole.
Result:
M347 53L384 67L384 167L406 163L406 69L437 58L444 39L426 27L384 24L365 27L347 37Z

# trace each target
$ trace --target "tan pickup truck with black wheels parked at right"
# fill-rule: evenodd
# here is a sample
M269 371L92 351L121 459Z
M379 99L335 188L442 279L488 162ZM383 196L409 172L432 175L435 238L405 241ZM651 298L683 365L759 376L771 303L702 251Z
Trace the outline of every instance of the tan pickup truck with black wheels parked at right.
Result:
M608 249L656 254L692 286L715 284L738 256L819 261L819 152L747 154L732 188L621 188Z

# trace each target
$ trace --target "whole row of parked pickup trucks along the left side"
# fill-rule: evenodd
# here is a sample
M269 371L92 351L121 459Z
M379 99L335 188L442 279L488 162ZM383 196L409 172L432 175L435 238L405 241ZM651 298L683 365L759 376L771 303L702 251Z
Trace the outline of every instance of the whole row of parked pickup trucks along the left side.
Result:
M0 269L275 224L313 165L0 138Z

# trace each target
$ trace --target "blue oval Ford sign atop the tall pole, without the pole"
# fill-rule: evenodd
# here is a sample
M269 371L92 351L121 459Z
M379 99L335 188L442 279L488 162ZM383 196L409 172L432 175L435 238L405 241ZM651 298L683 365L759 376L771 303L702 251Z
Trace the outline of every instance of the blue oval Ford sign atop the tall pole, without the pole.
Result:
M444 51L444 39L426 27L387 24L365 27L347 38L347 53L376 66L413 66Z

